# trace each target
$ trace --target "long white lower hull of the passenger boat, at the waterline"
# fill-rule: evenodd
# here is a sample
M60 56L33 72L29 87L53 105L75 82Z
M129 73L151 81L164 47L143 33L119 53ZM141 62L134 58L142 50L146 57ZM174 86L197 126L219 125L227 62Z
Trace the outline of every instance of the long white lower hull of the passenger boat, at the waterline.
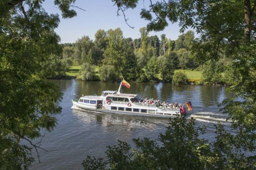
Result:
M102 108L96 108L95 105L86 105L86 104L81 104L78 103L77 101L72 100L73 102L73 106L84 109L84 110L91 110L91 111L100 111L100 112L107 112L107 113L115 113L115 114L129 114L129 115L138 115L138 116L151 116L151 117L177 117L179 114L179 112L177 111L172 111L173 114L176 115L161 115L158 113L141 113L141 112L131 112L131 111L120 111L120 110L110 110L110 109L102 109ZM74 107L74 108L75 108Z

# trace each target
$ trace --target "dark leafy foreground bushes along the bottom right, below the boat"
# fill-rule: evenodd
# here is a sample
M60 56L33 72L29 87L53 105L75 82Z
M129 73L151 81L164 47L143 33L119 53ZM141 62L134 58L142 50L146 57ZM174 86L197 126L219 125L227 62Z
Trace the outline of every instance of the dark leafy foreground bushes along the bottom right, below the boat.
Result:
M216 125L216 140L209 142L199 137L205 127L195 128L195 121L177 117L157 140L136 138L136 148L118 140L108 146L106 158L87 156L84 169L253 169L255 156L245 155L255 151L252 132L242 126L233 126L237 135L226 132L223 125Z

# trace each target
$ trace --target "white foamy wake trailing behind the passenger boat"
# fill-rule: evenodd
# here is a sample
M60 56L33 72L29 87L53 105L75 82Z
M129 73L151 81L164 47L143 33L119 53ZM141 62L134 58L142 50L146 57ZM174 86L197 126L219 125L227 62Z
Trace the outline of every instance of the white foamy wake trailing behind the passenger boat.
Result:
M230 124L230 120L227 120L227 115L221 114L219 112L195 112L190 114L187 119L191 117L195 118L197 121L204 121L210 123L225 123Z

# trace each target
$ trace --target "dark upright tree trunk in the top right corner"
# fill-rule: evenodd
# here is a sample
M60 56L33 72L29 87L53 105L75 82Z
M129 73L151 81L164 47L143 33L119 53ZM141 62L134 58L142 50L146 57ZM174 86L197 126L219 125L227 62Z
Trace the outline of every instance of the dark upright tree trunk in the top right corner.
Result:
M244 19L245 19L245 28L244 28L244 42L250 42L250 26L251 26L251 6L250 0L244 0Z

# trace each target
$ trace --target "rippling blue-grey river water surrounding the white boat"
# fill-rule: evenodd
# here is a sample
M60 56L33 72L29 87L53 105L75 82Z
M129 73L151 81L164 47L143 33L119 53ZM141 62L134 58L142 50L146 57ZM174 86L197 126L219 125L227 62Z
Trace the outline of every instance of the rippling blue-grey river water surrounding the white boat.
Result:
M38 159L30 169L82 169L82 161L87 155L104 157L107 145L114 145L117 139L133 146L133 138L156 139L164 132L169 120L144 116L120 115L72 109L71 99L81 95L100 95L103 90L117 90L119 83L99 81L52 80L63 92L61 114L52 132L45 133ZM147 98L161 101L185 103L191 101L193 111L187 118L196 118L197 126L206 125L204 138L214 140L214 124L230 122L218 112L217 104L233 94L224 86L174 85L164 83L130 83L131 88L122 86L122 93L138 93ZM36 156L36 154L34 154Z

